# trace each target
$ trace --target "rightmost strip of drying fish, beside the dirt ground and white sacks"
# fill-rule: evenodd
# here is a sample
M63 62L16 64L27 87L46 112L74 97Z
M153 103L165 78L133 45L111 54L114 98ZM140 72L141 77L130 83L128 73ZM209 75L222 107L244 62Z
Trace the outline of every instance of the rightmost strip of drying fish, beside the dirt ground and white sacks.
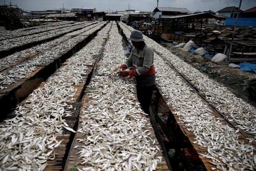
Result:
M200 92L205 94L205 98L218 111L224 114L224 117L230 122L235 122L237 128L250 133L256 139L256 109L248 102L232 93L228 88L220 85L215 80L212 80L204 73L195 69L184 60L171 54L167 49L163 48L158 43L150 41L156 52L172 64L179 73L192 83ZM155 46L156 45L156 46Z

